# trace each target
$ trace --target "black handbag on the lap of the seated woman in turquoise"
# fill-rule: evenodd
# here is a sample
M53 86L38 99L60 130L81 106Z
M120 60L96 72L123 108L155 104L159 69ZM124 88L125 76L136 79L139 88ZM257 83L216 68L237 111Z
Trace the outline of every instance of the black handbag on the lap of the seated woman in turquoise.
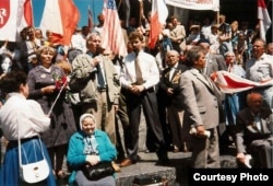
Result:
M82 172L90 181L97 181L115 173L111 162L100 162L96 165L86 163L82 167Z

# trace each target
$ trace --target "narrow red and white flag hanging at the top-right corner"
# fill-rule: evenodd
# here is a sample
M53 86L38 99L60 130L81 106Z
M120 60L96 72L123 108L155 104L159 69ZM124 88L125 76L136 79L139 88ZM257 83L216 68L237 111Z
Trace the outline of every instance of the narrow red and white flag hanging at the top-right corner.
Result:
M258 20L260 25L260 37L265 40L265 35L271 26L271 19L264 0L258 0Z

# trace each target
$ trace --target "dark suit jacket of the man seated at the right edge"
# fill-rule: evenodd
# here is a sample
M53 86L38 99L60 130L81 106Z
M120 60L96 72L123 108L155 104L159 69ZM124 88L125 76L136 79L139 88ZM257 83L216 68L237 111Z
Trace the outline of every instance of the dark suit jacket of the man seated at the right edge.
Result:
M273 133L273 114L269 107L263 107L260 114L262 131L254 125L254 117L249 107L240 111L236 118L237 151L246 153L253 140L266 139Z

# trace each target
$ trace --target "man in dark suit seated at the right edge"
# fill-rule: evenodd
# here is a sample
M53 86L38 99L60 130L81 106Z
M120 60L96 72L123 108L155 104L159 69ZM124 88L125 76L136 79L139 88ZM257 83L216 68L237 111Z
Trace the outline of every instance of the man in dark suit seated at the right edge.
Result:
M262 94L259 92L250 92L247 95L247 104L236 119L236 158L238 163L246 164L246 154L250 153L253 159L252 167L272 168L272 111L269 106L263 106Z

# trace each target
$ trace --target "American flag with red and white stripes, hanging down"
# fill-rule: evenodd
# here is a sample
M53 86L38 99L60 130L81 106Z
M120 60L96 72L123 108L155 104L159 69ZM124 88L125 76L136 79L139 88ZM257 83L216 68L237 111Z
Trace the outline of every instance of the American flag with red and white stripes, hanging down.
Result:
M105 16L102 34L103 48L109 47L115 54L126 56L127 48L115 0L104 1L103 14Z

